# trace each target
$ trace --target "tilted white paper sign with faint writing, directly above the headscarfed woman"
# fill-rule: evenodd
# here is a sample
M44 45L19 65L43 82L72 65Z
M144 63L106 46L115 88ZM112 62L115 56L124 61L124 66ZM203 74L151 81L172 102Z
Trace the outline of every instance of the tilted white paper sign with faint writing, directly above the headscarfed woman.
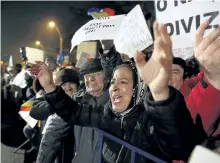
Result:
M142 51L153 43L140 5L127 14L114 43L118 52L129 57L133 57L137 50Z

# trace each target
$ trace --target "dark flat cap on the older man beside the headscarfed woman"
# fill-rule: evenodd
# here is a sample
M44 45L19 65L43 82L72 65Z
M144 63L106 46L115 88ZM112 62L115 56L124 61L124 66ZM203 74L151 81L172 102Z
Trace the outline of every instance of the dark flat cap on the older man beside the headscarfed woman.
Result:
M81 69L79 70L80 75L86 75L89 73L102 71L102 65L100 59L90 59L87 63L85 63Z

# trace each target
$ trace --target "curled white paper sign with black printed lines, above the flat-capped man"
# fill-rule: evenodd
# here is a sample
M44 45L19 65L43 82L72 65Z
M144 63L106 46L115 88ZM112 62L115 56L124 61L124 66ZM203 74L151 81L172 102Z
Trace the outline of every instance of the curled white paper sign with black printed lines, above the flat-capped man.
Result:
M125 15L108 17L108 19L94 19L83 25L71 40L71 50L83 41L115 39Z

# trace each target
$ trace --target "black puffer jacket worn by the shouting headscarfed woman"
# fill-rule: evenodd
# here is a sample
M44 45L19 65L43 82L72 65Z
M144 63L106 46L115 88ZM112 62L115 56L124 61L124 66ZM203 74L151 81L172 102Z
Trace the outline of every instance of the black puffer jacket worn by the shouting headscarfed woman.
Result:
M137 106L128 117L117 116L108 104L105 109L102 106L78 104L60 87L46 94L45 99L52 106L51 112L55 112L69 126L100 128L168 162L186 161L197 143L195 126L184 98L172 87L169 99L155 102L149 94L144 107ZM103 152L105 162L115 163L117 159L122 163L130 159L129 151L123 150L119 155L121 148L108 143L104 145L103 150L106 149L117 157L112 158ZM137 156L136 161L148 162L141 156Z

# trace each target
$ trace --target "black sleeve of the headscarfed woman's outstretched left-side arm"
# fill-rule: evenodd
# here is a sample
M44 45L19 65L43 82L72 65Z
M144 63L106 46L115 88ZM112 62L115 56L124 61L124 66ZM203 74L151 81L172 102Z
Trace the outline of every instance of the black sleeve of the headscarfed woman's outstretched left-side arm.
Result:
M102 116L103 107L77 103L66 95L60 87L56 87L55 91L46 94L45 99L51 106L51 112L55 112L65 122L71 125L100 128L100 123L104 118Z

